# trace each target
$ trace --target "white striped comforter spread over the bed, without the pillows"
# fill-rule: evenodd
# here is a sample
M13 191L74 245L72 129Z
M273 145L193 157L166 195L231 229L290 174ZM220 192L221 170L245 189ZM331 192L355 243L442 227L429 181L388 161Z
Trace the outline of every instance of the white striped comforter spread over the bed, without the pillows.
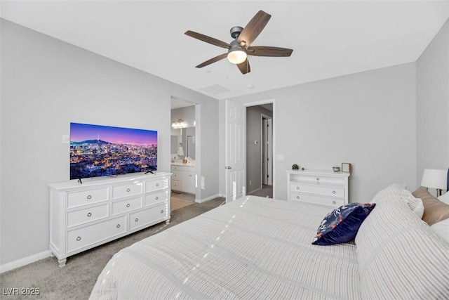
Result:
M91 299L358 299L356 246L311 242L330 207L244 197L121 250Z

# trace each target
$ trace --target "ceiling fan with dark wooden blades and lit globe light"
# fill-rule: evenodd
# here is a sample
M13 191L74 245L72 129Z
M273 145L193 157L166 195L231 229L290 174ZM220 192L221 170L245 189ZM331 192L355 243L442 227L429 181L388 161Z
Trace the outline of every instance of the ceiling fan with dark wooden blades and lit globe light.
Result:
M204 63L201 63L196 67L206 67L206 65L210 65L218 60L227 58L231 63L237 65L242 74L246 74L251 72L250 63L248 62L247 56L290 56L293 49L272 46L250 46L256 37L259 36L260 32L262 32L270 18L272 18L272 15L269 15L264 11L259 11L254 15L250 22L248 22L248 25L246 25L245 28L240 26L232 27L230 32L234 41L230 44L198 32L187 30L185 34L189 37L194 37L200 41L206 41L206 43L228 49L227 53L215 56L215 58L210 58L210 60L206 60Z

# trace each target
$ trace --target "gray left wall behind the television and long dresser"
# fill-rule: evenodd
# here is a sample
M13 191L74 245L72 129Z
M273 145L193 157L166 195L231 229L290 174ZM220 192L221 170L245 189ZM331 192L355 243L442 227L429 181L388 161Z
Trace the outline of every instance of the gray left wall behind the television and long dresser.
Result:
M70 122L157 130L170 171L171 96L200 103L197 197L217 195L217 100L1 20L0 264L48 250L47 184L69 179Z

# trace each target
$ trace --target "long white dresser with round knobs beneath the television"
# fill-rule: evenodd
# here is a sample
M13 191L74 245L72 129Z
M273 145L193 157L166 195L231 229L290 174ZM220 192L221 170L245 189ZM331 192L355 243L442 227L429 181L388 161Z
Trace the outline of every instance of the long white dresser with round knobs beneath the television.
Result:
M132 175L132 174L130 174ZM68 256L170 222L170 173L51 183L50 251Z

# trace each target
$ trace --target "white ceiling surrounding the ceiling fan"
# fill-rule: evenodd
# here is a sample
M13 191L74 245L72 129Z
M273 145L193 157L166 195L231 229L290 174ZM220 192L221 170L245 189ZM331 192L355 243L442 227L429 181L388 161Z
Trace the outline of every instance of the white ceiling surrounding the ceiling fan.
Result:
M222 99L419 58L449 16L448 1L1 1L1 18ZM253 46L293 48L290 58L250 56L251 72L220 60L257 11L272 15Z

